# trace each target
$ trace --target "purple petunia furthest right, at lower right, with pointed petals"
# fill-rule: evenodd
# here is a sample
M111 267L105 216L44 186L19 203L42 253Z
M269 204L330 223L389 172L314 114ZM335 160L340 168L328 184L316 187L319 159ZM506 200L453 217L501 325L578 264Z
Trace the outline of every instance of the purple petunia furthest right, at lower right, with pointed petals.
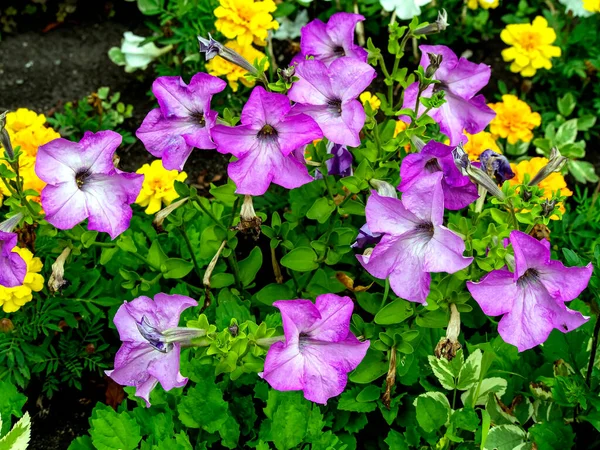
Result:
M588 318L566 307L587 287L592 264L565 267L550 259L550 243L521 232L510 234L515 272L488 273L467 288L488 316L502 315L498 332L520 352L542 344L553 329L563 333L580 327Z

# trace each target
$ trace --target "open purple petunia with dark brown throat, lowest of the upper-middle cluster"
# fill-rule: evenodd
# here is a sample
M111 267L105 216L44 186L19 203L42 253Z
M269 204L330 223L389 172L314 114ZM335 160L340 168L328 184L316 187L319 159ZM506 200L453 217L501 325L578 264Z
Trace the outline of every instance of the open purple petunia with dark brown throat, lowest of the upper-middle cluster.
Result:
M263 195L271 182L294 189L313 180L306 166L291 153L323 133L309 116L292 116L290 109L285 95L257 86L244 105L241 125L213 128L217 151L238 158L227 168L236 193Z

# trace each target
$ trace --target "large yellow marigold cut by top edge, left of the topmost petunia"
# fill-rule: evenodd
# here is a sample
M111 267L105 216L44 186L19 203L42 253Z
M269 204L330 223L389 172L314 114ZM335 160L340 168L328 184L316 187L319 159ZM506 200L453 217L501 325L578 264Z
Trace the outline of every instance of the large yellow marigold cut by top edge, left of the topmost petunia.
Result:
M220 0L215 9L215 27L227 39L237 39L243 47L266 45L269 30L276 30L279 23L271 13L277 9L273 0Z

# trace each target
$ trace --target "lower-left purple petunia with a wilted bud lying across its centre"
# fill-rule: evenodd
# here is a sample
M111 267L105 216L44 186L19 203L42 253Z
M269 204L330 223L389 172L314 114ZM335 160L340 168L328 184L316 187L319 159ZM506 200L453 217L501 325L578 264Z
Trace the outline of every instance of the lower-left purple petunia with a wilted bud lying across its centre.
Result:
M181 313L197 306L183 295L156 294L154 300L138 297L125 302L114 318L122 345L115 356L114 370L106 375L123 386L134 386L135 395L150 406L150 392L160 382L169 391L187 383L179 373L181 344L170 342L165 331L179 324Z

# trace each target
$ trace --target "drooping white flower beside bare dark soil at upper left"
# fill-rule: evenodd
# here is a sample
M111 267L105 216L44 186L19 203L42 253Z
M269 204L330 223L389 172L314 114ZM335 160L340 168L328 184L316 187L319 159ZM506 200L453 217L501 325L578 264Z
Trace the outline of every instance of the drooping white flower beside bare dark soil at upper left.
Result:
M125 72L131 73L138 69L145 70L148 64L173 49L172 45L158 48L154 45L154 42L148 42L140 46L145 40L145 37L126 31L123 33L121 48L111 48L108 51L108 56L115 64L125 66Z

